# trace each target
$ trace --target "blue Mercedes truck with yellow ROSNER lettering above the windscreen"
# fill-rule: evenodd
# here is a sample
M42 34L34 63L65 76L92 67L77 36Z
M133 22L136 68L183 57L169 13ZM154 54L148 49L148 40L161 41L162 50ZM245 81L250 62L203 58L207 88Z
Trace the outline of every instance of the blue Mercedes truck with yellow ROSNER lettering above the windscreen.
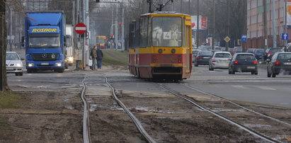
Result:
M28 73L64 71L67 38L63 11L26 11L24 39Z

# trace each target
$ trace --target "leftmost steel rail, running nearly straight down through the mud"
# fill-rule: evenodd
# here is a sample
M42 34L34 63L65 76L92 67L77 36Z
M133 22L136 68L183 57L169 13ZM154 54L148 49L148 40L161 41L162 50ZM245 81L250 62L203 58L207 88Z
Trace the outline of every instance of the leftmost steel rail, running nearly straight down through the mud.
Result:
M83 90L81 93L81 98L84 103L84 113L83 113L83 142L84 143L89 143L89 113L88 113L88 106L87 106L87 101L85 97L85 91L86 91L86 84L85 81L88 79L88 74L85 75L82 84L83 84Z

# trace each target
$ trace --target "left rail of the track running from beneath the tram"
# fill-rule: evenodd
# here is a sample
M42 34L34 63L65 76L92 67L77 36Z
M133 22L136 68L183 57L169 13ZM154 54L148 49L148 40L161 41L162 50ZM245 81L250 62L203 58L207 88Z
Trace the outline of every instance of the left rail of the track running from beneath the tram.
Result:
M205 110L205 111L211 113L212 115L215 115L215 116L217 116L218 118L221 118L222 120L225 120L225 121L231 123L232 125L236 125L236 127L239 127L239 128L241 128L242 130L245 130L246 132L249 132L249 133L250 133L251 135L253 135L253 136L259 137L259 138L264 139L264 140L266 140L266 141L268 141L268 142L279 142L279 141L277 141L277 140L271 139L270 137L266 137L265 135L261 135L260 133L258 133L258 132L256 132L256 131L253 131L253 130L249 129L248 127L245 127L244 125L239 124L239 122L235 122L234 120L231 120L231 119L229 119L229 118L227 118L227 117L224 117L223 115L220 115L219 113L216 113L216 112L213 111L213 110L210 110L210 109L208 109L208 108L205 108L205 107L203 107L202 105L199 105L199 104L196 103L195 101L191 100L190 98L187 98L187 97L185 97L185 96L182 96L180 93L177 93L176 91L173 91L173 90L171 90L170 88L167 88L166 86L164 86L164 85L162 85L162 84L159 84L159 86L161 86L161 88L164 88L164 89L166 89L167 91L171 92L173 95L178 96L178 97L180 97L180 98L183 98L184 100L186 100L186 101L192 103L192 104L195 105L196 107L198 107L198 108L200 108L200 109L202 109L202 110Z

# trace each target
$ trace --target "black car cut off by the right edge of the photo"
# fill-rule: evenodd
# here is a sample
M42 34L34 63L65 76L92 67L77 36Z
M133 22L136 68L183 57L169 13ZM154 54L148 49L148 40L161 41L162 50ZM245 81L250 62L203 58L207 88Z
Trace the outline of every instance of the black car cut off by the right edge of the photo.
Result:
M291 74L291 52L276 52L267 66L267 76Z

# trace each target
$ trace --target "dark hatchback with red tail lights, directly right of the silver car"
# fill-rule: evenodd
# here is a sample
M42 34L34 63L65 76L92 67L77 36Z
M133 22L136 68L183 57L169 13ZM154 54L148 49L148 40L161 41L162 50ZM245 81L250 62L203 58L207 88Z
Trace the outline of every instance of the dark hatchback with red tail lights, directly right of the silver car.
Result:
M240 52L234 54L232 61L229 62L229 74L239 72L251 72L251 74L258 74L258 61L255 55L247 52Z

